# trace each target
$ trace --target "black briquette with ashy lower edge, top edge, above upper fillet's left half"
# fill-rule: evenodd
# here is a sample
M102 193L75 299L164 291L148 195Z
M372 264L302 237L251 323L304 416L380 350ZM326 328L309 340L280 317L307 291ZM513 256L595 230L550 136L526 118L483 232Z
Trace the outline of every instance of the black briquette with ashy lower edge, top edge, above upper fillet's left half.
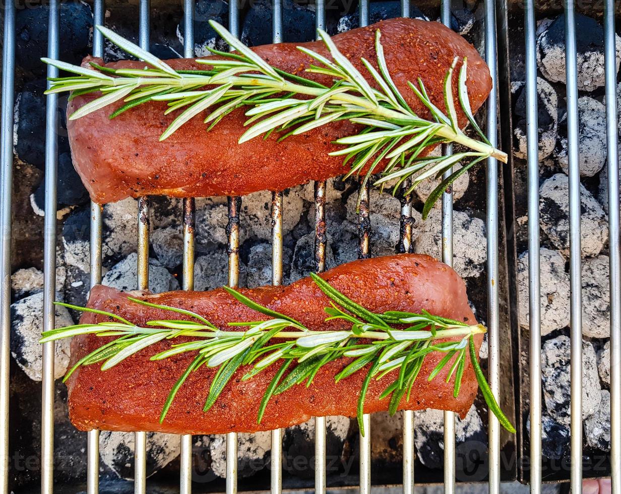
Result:
M211 52L208 48L227 52L229 45L212 29L209 21L229 27L229 4L223 0L199 0L194 6L194 53L196 57L208 57ZM271 25L271 24L270 24ZM182 17L177 26L177 37L183 45L185 23ZM271 43L271 40L268 41Z

